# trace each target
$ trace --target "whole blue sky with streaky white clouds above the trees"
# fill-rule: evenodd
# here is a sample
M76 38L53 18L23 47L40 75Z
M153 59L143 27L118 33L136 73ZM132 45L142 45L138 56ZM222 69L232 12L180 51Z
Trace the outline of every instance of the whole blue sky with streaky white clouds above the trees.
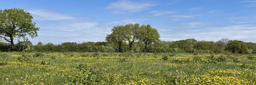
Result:
M256 42L256 0L6 0L0 9L22 8L40 27L38 42L105 41L111 28L150 24L165 41Z

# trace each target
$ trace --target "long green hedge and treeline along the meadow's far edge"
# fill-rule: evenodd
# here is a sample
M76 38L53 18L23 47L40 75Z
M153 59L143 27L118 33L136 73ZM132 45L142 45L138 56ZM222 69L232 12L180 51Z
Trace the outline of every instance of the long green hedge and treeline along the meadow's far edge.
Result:
M144 42L122 42L121 52L143 52ZM9 43L0 42L0 51L11 51ZM64 42L61 44L38 42L32 45L30 41L21 41L15 44L14 51L38 51L38 52L119 52L119 45L114 42ZM179 41L160 41L149 44L145 52L177 52L177 53L239 53L255 54L256 43L223 38L217 42L197 41L186 39Z

